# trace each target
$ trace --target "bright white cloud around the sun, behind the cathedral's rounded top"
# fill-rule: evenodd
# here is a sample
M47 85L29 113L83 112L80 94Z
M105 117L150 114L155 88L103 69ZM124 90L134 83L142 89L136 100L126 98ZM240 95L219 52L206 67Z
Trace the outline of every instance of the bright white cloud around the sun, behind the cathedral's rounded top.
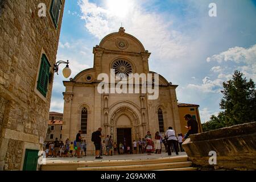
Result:
M127 33L141 40L146 49L154 51L152 56L155 59L170 61L188 52L187 38L172 27L172 20L166 20L161 14L146 12L140 4L142 2L126 0L117 4L113 2L112 6L109 2L106 1L106 7L101 7L88 0L79 1L85 27L96 38L102 39L117 32L123 22Z

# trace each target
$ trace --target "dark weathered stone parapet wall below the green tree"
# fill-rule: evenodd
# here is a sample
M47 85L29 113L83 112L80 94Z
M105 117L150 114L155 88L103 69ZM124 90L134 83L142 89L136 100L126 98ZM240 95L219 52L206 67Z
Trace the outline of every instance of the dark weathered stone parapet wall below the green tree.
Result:
M191 135L183 148L189 159L201 167L256 169L256 122ZM209 164L216 151L217 164Z

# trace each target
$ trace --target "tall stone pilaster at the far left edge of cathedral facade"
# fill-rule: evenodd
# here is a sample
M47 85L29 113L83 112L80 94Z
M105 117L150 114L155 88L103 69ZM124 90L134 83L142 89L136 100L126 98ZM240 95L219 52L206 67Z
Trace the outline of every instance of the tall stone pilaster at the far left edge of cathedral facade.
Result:
M70 138L71 136L71 106L73 100L73 93L64 92L64 110L63 110L63 138Z

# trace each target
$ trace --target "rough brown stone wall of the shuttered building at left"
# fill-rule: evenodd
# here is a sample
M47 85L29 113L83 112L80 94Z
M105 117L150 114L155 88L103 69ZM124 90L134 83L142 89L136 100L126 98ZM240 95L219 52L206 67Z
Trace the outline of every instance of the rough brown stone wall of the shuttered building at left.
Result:
M0 170L22 169L23 142L42 148L46 136L53 77L47 97L36 85L42 53L53 75L65 1L57 29L49 13L51 2L0 2ZM46 17L38 16L39 3L47 6Z

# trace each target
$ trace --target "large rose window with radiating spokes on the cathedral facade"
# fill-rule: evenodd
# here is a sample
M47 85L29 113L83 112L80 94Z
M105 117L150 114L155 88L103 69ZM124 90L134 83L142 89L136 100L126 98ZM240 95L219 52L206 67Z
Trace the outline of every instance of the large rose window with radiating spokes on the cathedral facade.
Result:
M124 59L115 60L111 68L115 69L115 75L119 78L127 78L130 73L133 73L133 66Z

